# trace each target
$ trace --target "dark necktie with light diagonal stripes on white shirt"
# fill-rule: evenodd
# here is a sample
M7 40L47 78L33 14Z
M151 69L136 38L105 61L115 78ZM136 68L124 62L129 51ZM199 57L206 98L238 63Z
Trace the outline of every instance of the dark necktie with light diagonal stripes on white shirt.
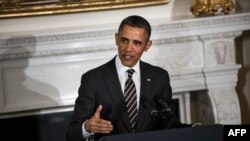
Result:
M137 100L136 100L136 88L135 83L132 79L132 75L135 72L133 69L127 70L128 79L125 82L124 97L125 104L127 107L127 112L129 115L129 121L131 123L131 128L135 132L136 121L137 121Z

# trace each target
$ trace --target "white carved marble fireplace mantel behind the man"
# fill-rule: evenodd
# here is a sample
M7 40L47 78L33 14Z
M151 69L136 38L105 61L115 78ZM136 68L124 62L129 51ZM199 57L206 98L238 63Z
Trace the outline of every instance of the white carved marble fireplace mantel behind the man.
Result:
M174 97L206 90L215 123L241 123L234 39L250 29L250 13L161 19L152 29L143 60L169 71ZM116 30L117 24L1 34L1 118L72 110L81 75L116 55Z

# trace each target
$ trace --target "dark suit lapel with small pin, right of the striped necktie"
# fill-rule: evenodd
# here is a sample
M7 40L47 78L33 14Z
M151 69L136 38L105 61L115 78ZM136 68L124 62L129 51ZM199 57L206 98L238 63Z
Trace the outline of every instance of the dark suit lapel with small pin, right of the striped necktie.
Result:
M146 68L145 63L140 61L141 70L141 94L140 97L146 96L150 97L152 93L151 89L151 73L148 68ZM147 109L143 108L142 104L139 104L138 122L136 131L142 131L143 126L146 125L145 122L150 119L150 114Z

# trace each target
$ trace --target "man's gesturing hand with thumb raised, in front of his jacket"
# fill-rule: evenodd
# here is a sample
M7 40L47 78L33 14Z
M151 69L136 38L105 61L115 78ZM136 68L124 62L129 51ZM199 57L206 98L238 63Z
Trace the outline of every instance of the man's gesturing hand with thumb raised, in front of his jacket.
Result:
M113 125L110 121L100 118L102 105L99 105L94 115L85 122L85 129L92 133L110 133L113 130Z

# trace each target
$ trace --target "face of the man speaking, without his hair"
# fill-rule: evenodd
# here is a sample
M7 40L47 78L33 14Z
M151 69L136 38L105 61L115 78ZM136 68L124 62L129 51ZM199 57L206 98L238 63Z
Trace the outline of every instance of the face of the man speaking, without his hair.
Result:
M132 68L147 51L152 41L146 39L146 31L125 25L119 34L115 35L118 55L124 66Z

